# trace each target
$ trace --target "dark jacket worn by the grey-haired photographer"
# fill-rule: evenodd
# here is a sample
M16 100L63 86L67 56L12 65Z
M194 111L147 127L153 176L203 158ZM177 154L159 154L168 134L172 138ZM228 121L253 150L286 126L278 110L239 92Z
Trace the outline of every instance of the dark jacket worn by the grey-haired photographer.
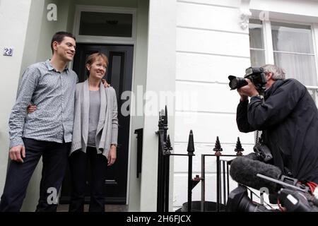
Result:
M304 85L278 80L266 90L264 101L252 97L237 106L241 132L263 131L273 164L293 177L318 183L318 110Z

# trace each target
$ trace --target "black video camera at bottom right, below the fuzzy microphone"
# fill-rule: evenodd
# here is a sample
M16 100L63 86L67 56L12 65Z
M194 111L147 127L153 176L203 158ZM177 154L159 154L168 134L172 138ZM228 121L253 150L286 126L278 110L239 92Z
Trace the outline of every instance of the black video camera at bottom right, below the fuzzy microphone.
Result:
M280 180L257 174L258 177L281 185L277 201L286 212L318 212L318 199L310 194L308 186L300 184L298 179L281 177ZM247 187L239 185L228 196L225 211L227 212L278 212L278 209L268 209L254 203L247 195Z

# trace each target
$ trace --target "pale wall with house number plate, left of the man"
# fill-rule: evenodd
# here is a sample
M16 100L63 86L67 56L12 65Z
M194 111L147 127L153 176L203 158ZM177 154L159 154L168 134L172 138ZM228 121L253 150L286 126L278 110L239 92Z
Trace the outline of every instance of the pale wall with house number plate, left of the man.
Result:
M30 0L0 1L0 193L4 189L8 163L8 118L16 100L28 28ZM4 57L4 47L13 47L13 57Z

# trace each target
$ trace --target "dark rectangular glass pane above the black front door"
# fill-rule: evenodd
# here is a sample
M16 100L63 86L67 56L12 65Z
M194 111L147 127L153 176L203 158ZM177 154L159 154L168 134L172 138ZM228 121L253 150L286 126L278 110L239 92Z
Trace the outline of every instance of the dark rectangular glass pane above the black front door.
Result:
M131 37L132 14L81 12L79 35Z

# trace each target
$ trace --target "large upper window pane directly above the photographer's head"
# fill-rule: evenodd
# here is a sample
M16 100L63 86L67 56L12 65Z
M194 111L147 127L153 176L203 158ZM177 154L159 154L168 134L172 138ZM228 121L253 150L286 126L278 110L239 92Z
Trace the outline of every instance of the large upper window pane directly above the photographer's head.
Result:
M271 23L273 50L313 54L310 25Z

